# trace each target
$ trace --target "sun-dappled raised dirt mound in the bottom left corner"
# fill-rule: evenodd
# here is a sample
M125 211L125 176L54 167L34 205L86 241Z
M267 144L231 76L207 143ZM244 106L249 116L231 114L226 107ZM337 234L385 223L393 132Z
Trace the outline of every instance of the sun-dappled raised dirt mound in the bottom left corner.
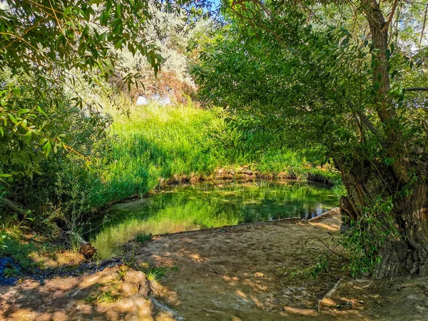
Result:
M122 295L114 302L93 302L118 280L120 267L93 275L50 280L23 280L13 287L0 287L0 320L147 320L174 321L174 313L147 295ZM123 283L123 282L121 282Z

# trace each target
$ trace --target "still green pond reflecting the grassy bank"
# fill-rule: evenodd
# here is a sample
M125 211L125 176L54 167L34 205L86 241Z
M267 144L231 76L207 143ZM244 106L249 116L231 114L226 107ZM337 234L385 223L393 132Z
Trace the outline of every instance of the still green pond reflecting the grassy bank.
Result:
M153 235L223 225L312 218L337 206L324 185L285 181L176 185L111 206L88 227L86 239L101 259L121 254L136 233Z

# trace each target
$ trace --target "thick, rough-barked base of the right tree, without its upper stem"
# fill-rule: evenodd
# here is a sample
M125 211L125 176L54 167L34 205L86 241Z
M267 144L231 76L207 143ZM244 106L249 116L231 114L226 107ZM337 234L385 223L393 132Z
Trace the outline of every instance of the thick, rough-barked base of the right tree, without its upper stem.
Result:
M340 200L342 223L349 225L350 220L357 221L368 211L372 219L382 223L381 232L388 233L391 225L397 229L395 235L385 237L385 243L379 245L382 262L375 275L428 275L428 185L415 184L408 196L402 196L397 194L401 183L394 170L382 163L367 161L349 168L338 161L336 166L347 188L347 197ZM373 210L379 197L392 199L389 213ZM374 226L368 224L366 228L373 230Z

